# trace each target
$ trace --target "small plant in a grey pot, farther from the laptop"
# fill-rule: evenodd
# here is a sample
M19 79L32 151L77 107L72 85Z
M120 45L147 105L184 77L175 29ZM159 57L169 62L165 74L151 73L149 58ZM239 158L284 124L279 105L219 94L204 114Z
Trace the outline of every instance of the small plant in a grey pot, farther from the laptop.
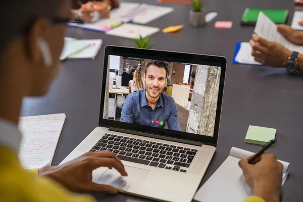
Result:
M203 8L204 7L203 1L192 0L191 4L194 10L191 10L189 13L189 23L195 27L204 25L206 10Z

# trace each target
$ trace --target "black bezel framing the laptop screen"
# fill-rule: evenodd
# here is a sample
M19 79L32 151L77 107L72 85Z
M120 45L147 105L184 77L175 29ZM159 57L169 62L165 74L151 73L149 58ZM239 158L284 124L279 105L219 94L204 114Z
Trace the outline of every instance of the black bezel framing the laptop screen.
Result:
M154 60L163 60L163 61L171 61L171 62L190 63L190 64L201 64L201 65L210 65L210 66L220 66L221 74L220 74L220 82L219 82L214 136L199 135L199 134L173 131L169 129L162 129L162 128L156 128L151 126L130 124L130 123L124 123L114 120L103 119L109 55L133 57L133 58L141 58L141 59L154 59ZM141 49L141 48L130 48L130 47L108 45L105 48L105 57L104 57L102 90L100 97L99 126L115 127L115 128L139 131L139 132L156 134L156 135L167 136L172 138L201 142L204 144L216 146L218 142L218 134L219 134L219 126L220 126L220 115L221 115L222 99L223 99L223 91L224 91L226 63L227 63L226 58L221 56L177 53L177 52L168 52L168 51L157 51L152 49Z

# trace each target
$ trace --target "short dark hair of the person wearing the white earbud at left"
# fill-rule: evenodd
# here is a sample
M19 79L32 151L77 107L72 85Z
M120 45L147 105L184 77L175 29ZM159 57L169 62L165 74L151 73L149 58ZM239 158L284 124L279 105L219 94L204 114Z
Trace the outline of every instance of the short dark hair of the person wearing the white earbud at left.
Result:
M17 37L26 35L27 29L38 17L57 16L63 0L7 0L1 2L0 55Z

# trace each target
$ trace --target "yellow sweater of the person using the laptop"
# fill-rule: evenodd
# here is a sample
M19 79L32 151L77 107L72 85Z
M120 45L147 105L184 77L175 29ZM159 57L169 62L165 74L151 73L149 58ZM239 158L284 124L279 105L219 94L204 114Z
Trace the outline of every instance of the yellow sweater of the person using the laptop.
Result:
M93 202L93 197L69 192L60 184L38 176L38 170L21 168L18 156L0 147L0 201L10 202ZM257 196L243 202L265 202Z

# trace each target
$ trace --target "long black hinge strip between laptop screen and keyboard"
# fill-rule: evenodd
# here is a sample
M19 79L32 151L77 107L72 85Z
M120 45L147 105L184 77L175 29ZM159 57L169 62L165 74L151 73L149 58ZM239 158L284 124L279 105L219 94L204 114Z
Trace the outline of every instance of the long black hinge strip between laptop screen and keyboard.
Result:
M163 139L163 140L167 140L167 141L179 142L179 143L184 143L184 144L191 144L191 145L195 145L195 146L202 146L202 144L203 144L202 142L167 137L167 136L162 136L162 135L155 135L155 134L151 134L151 133L145 133L145 132L140 132L140 131L135 131L135 130L127 130L127 129L122 129L122 128L110 127L109 130L116 131L116 132L122 132L122 133L128 133L128 134L132 134L132 135L151 137L151 138L155 138L155 139Z

